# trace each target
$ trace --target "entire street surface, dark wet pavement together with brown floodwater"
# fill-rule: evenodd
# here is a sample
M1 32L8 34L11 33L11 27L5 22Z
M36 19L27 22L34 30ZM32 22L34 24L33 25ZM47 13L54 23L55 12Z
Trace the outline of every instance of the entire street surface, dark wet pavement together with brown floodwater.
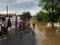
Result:
M0 40L0 45L60 45L60 28L52 29L43 23L37 23L33 29L35 33L32 33L32 29L26 33L15 31L14 28L12 26L7 39Z

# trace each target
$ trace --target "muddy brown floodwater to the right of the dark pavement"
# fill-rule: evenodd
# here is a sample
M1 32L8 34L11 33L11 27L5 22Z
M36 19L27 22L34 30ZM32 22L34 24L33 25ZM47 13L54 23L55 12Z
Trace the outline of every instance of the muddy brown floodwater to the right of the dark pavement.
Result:
M44 28L35 29L37 45L60 45L60 28Z

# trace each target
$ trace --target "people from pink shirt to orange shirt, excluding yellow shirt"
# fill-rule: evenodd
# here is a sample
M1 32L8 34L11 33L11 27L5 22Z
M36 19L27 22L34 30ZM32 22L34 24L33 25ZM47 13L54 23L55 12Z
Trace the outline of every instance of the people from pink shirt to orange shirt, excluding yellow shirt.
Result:
M21 18L17 21L20 31L27 31L30 28L30 20L22 20Z

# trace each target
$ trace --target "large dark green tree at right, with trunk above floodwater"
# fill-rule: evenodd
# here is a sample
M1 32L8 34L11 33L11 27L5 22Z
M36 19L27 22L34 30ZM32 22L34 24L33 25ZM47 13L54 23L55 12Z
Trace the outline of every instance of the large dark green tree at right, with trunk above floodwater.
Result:
M39 0L39 6L48 13L49 22L54 27L54 22L60 18L60 0Z

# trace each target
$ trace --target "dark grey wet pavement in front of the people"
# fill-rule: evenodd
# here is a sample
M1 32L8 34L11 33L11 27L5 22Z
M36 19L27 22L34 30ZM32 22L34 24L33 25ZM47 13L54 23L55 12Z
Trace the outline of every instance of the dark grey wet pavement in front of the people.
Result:
M0 45L36 45L36 38L32 31L26 33L12 30L7 39L0 40Z

